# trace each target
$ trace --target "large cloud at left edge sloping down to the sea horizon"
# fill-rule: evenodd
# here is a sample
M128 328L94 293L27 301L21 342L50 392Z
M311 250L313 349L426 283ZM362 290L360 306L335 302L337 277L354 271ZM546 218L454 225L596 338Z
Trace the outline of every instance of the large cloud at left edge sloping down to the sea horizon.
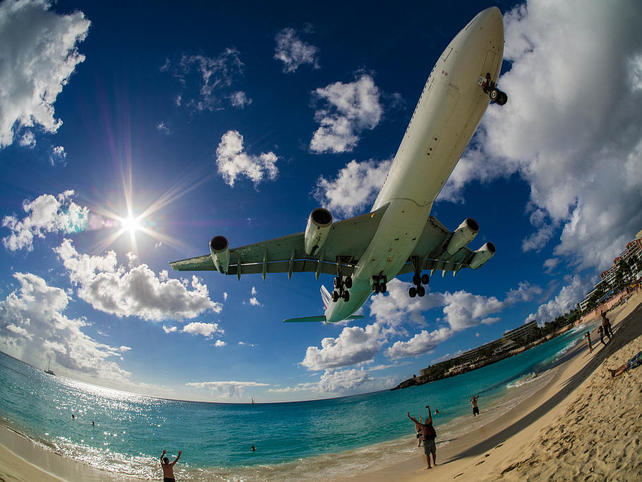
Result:
M92 377L126 382L130 373L111 357L120 357L129 347L110 347L85 335L84 318L64 315L69 298L59 288L47 285L30 273L13 274L20 287L0 301L0 349L34 365L48 357L69 370Z

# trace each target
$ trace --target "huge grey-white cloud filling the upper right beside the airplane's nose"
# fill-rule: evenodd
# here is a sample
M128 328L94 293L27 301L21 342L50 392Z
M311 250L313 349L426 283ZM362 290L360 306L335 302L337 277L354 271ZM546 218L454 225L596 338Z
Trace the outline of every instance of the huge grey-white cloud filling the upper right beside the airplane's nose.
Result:
M555 240L579 270L609 266L642 226L641 24L634 0L529 0L507 13L509 102L488 109L446 194L516 173L538 212L524 251ZM596 95L598 78L610 95Z

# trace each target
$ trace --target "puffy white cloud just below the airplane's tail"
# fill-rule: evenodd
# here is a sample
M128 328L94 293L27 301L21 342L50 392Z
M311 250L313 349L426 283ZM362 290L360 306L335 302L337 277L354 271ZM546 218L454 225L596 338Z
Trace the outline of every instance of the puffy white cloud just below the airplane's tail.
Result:
M301 365L308 370L326 370L374 359L384 337L380 326L345 327L337 338L321 340L321 349L308 347Z

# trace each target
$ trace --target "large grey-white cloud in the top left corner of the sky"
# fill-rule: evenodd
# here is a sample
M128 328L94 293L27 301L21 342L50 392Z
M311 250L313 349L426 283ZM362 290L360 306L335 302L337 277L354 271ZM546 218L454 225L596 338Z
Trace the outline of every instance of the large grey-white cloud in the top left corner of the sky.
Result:
M0 4L0 148L25 128L58 130L54 102L85 60L76 43L85 40L90 21L81 11L59 15L51 6L47 0ZM20 142L34 145L35 139L25 133Z

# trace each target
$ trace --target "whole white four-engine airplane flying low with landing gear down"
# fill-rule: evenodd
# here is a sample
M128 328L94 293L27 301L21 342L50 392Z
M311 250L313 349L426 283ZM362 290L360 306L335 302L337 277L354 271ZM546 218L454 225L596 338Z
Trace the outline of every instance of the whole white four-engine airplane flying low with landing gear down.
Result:
M217 270L225 275L313 272L334 275L332 294L321 287L325 314L284 322L364 318L354 315L370 294L385 293L387 282L413 272L411 298L424 296L430 270L455 275L476 270L495 254L485 243L467 247L479 231L468 218L449 231L430 216L440 193L475 133L490 102L508 97L497 88L504 55L504 24L497 7L478 13L448 44L425 83L399 150L370 212L333 222L317 207L304 232L270 241L229 248L214 236L210 253L170 263L174 270Z

